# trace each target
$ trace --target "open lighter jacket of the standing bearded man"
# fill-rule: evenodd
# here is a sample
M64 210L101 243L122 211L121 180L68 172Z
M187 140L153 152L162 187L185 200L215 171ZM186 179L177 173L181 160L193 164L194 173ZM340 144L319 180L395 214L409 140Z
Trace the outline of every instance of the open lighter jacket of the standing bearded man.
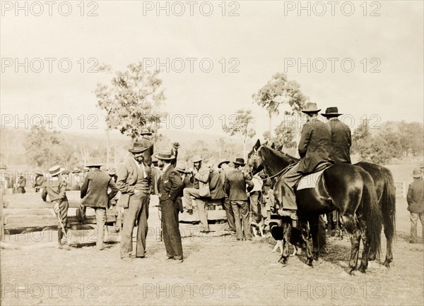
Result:
M126 204L129 202L129 197L134 195L134 190L137 179L139 178L137 165L134 158L128 159L125 164L118 169L118 179L117 186L121 195L119 197L119 205L126 207ZM144 190L146 193L150 193L151 186L151 168L144 164L144 170L147 175L147 184L148 188Z

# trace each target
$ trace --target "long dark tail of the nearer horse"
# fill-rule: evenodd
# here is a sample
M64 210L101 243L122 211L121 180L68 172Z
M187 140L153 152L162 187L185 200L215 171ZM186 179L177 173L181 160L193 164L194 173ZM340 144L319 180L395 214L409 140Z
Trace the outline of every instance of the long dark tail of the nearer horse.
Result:
M360 171L363 178L364 188L361 204L363 207L363 216L365 218L367 240L375 245L377 254L381 253L381 233L382 233L382 212L379 208L377 192L375 191L374 180L370 174Z

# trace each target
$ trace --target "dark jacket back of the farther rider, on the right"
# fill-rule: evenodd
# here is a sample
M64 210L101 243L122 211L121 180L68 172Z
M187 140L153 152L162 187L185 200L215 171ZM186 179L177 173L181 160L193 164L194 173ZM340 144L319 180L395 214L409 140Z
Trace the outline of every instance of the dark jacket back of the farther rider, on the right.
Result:
M326 123L331 130L332 158L336 164L351 163L351 129L337 118Z

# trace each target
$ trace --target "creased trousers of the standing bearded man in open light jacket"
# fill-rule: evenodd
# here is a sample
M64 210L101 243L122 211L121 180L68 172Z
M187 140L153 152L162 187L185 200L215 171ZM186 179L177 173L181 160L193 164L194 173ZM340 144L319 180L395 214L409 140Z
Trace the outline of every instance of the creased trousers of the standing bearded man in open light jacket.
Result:
M128 208L124 208L124 224L121 234L121 258L130 257L133 249L132 232L137 221L136 257L146 255L148 200L144 192L136 192L129 198Z

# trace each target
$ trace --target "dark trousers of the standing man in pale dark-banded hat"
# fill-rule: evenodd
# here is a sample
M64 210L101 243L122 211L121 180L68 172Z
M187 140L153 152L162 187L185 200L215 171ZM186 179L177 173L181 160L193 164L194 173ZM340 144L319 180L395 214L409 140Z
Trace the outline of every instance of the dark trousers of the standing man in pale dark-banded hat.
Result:
M178 227L179 207L172 200L160 201L162 233L168 258L182 259L181 235Z

